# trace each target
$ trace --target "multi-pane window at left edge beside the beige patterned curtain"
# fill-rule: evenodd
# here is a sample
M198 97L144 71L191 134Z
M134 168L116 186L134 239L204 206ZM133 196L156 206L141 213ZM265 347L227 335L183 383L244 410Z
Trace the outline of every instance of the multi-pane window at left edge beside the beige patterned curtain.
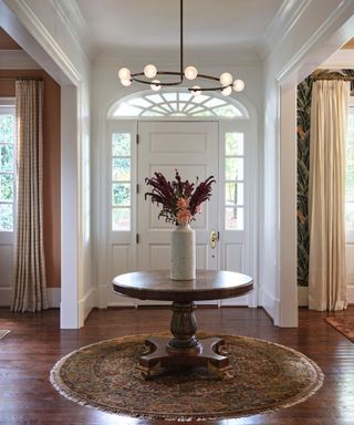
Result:
M13 231L14 126L13 102L3 100L0 103L0 231Z

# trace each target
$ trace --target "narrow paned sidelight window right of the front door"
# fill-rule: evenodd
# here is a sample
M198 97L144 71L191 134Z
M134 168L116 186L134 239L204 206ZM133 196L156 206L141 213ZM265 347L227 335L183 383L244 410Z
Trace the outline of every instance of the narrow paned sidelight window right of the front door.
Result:
M243 230L243 133L225 133L225 229Z

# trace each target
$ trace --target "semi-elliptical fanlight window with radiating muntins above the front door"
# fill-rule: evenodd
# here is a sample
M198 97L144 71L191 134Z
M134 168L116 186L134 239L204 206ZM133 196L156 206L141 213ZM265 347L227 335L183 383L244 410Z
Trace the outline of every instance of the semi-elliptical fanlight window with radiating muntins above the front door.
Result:
M115 103L108 112L110 118L138 116L249 117L246 107L235 100L225 99L216 94L194 96L185 91L134 94Z

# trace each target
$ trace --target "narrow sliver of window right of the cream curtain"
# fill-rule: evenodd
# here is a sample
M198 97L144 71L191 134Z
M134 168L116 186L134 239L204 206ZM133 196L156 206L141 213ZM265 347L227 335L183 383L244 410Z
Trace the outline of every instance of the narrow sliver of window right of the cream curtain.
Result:
M345 228L354 231L354 99L351 97L345 152Z

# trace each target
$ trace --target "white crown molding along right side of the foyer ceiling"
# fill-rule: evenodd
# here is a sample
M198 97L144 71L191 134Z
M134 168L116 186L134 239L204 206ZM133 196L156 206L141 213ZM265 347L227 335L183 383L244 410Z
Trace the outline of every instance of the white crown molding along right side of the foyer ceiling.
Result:
M258 52L263 60L292 30L310 2L311 0L283 0L258 44Z

